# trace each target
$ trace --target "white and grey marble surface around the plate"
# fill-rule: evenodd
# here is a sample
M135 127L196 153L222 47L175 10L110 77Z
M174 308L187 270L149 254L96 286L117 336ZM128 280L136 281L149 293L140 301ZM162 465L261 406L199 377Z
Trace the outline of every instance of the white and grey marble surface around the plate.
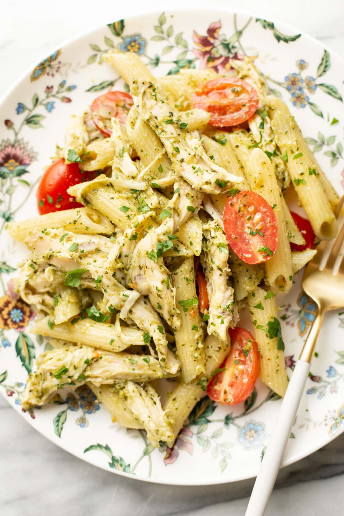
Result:
M94 6L97 6L96 8ZM100 8L101 5L101 8ZM2 0L0 96L27 68L67 38L133 13L163 10L167 0L96 4L59 0ZM205 0L174 0L174 7L208 7ZM304 30L344 56L344 4L328 0L212 0L280 20ZM1 356L0 356L1 364ZM253 480L212 487L164 487L122 478L69 455L30 427L0 398L0 507L4 516L205 516L244 514ZM280 471L266 512L330 514L340 507L344 482L344 434L313 455ZM216 505L215 505L216 504Z

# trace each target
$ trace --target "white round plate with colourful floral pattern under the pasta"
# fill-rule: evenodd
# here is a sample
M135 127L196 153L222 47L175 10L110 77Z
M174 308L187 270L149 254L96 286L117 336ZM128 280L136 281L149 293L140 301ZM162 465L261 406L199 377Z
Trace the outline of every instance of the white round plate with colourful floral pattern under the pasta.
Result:
M256 56L271 93L286 100L340 193L343 60L312 38L267 20L213 11L157 13L109 23L63 46L42 59L0 108L0 391L44 436L108 471L181 485L251 477L258 471L281 403L259 382L250 398L235 407L202 399L172 450L165 445L154 449L143 431L112 424L86 388L61 391L41 410L24 413L21 408L27 374L35 357L50 345L29 333L34 313L8 285L25 248L7 237L5 225L37 213L35 190L42 168L55 142L62 144L70 115L82 112L100 92L124 88L108 65L100 65L102 54L113 48L137 53L158 75L183 68L223 72L230 58ZM316 309L302 292L300 277L292 292L277 300L284 303L280 319L289 376ZM344 430L343 400L344 312L333 312L325 317L284 464L312 453Z

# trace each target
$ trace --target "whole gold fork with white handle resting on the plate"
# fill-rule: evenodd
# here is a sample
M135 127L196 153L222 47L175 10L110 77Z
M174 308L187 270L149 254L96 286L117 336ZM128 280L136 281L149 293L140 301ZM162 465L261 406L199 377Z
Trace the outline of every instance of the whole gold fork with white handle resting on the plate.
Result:
M344 197L336 208L338 216ZM261 462L245 516L263 516L272 492L290 430L295 421L300 400L308 377L323 316L329 310L344 307L344 260L339 255L344 240L344 223L335 240L323 240L318 252L304 271L302 287L318 305L318 314L294 367L287 392L267 449ZM333 243L334 242L334 243ZM344 253L343 253L344 254Z

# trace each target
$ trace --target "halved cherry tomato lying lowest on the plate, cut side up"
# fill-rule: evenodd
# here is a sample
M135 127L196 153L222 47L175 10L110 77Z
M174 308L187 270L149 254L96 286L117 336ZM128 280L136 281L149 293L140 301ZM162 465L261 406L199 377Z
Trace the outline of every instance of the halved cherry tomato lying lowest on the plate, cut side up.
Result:
M219 373L210 380L207 394L213 401L236 405L253 391L259 375L259 353L249 331L237 327L230 330L230 335L231 351L219 367Z

